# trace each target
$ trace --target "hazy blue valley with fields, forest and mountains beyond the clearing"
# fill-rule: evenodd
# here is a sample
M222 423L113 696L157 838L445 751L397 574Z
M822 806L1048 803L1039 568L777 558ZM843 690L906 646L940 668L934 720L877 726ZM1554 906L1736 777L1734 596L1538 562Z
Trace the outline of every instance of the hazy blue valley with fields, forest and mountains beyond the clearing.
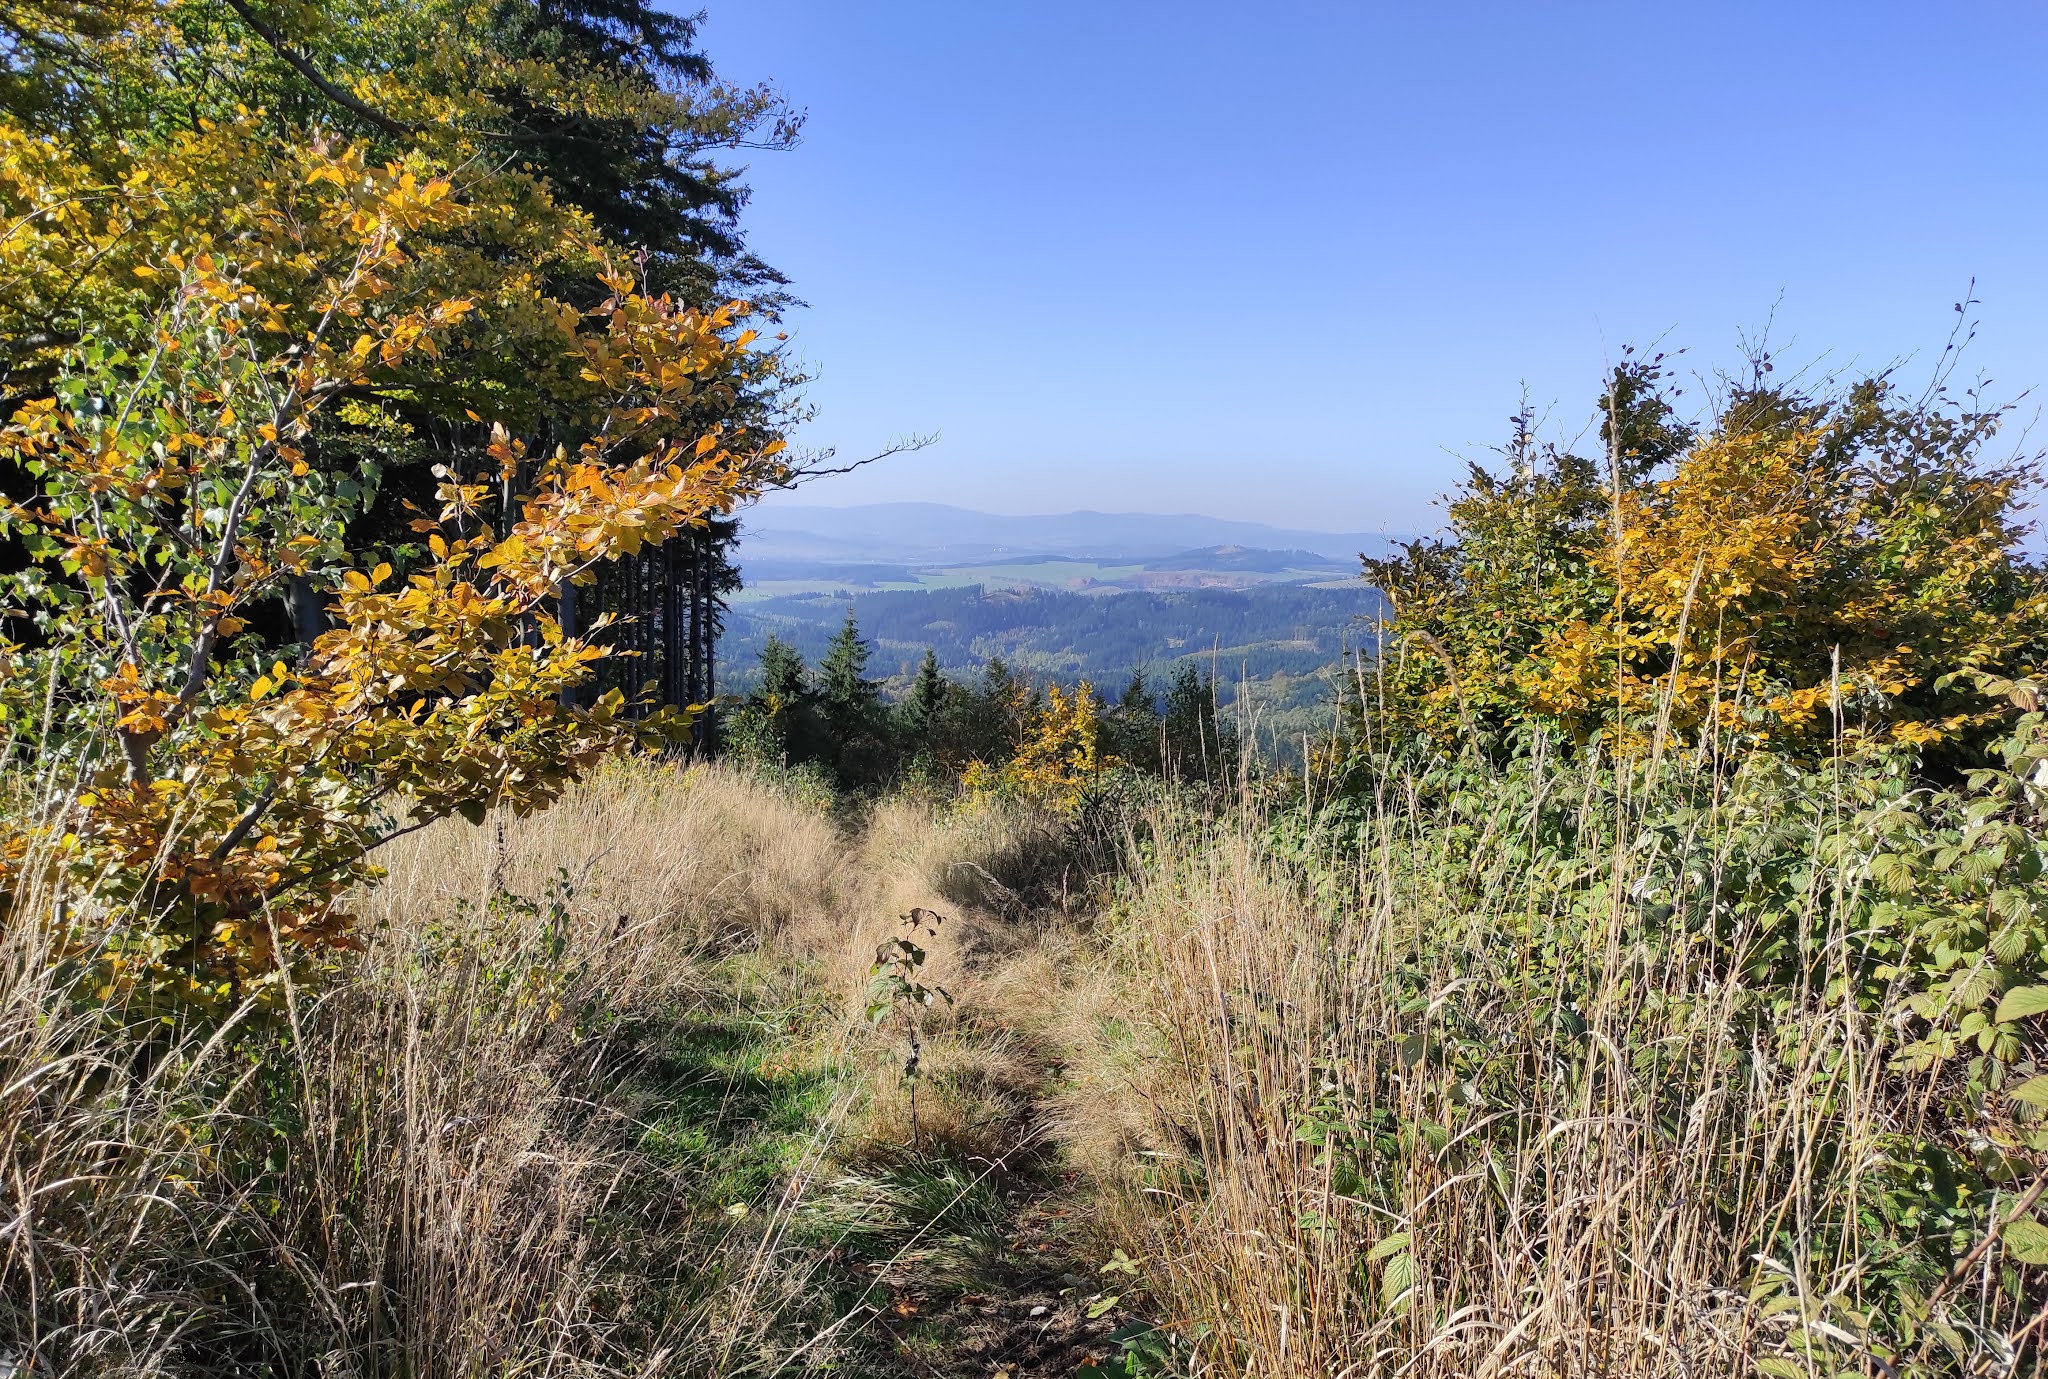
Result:
M815 662L852 613L870 672L897 684L926 647L954 674L997 656L1112 695L1196 660L1225 699L1249 682L1266 713L1303 711L1368 637L1380 600L1358 557L1389 545L1196 514L760 508L741 523L721 688L754 684L770 635Z

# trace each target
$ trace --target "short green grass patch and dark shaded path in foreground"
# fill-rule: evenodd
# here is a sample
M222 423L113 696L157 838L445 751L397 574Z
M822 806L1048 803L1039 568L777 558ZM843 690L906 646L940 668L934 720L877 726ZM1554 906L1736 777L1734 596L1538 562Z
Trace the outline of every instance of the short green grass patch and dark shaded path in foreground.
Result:
M743 955L711 975L696 1010L639 1035L625 1088L639 1147L692 1184L694 1211L776 1217L834 1373L1065 1379L1114 1348L1128 1318L1083 1262L1079 1180L1034 1100L993 1158L842 1141L877 1068L844 1041L819 973L762 981Z

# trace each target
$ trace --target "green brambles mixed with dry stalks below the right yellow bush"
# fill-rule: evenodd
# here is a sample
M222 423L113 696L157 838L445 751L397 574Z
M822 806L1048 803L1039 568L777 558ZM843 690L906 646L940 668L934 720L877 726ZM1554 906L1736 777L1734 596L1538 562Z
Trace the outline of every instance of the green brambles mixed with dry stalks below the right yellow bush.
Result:
M1223 1373L2017 1373L2038 715L1948 791L1567 748L1161 818L1065 1109L1110 1238Z

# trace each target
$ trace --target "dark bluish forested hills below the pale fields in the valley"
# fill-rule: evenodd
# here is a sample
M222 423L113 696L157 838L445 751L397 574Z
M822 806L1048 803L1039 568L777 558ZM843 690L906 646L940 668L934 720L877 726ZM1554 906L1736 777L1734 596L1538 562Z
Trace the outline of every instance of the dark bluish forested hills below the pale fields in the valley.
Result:
M737 604L725 629L725 688L758 682L758 658L780 637L809 660L827 654L852 615L874 647L881 678L905 682L926 647L940 670L975 674L991 658L1032 676L1120 684L1130 672L1167 674L1176 662L1214 662L1225 684L1313 674L1370 635L1378 594L1276 584L1249 590L1073 594L1065 590L883 590L786 594Z

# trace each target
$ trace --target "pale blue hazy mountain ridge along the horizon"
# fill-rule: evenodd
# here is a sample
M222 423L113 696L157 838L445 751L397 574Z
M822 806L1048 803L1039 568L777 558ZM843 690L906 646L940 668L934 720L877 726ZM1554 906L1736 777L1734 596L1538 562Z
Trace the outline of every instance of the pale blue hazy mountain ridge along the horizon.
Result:
M971 563L1024 555L1159 561L1214 547L1309 551L1352 566L1360 551L1393 541L1356 531L1290 531L1266 523L1161 512L1061 512L1001 516L938 502L872 502L852 508L772 506L741 518L741 566L760 561Z

